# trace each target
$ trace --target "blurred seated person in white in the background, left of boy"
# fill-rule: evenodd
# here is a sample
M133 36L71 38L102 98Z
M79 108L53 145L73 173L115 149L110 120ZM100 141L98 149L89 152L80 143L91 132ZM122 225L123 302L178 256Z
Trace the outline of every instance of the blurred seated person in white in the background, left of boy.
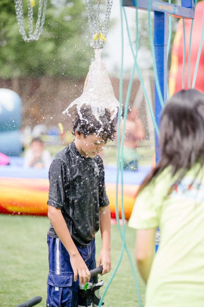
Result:
M29 149L25 152L24 168L49 169L50 164L50 152L44 149L43 141L40 138L33 138Z

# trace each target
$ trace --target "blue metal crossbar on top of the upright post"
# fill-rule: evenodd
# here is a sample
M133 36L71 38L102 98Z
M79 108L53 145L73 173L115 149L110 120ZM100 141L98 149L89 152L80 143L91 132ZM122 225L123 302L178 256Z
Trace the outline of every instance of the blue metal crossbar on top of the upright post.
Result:
M136 0L123 0L123 6L132 6L135 7ZM189 3L191 2L191 7L189 6L179 6L159 0L152 0L151 1L151 11L157 12L164 12L172 15L176 15L181 18L194 18L194 1L186 0L183 2ZM147 10L148 0L137 0L138 8L141 10Z

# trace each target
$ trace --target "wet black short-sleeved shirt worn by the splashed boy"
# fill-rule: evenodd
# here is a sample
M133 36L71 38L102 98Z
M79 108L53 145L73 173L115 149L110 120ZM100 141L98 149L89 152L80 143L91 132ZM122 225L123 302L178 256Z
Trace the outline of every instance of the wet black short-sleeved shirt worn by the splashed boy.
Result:
M99 229L99 207L109 204L100 156L82 156L72 142L50 165L47 204L61 209L73 241L87 245ZM57 238L52 224L48 235Z

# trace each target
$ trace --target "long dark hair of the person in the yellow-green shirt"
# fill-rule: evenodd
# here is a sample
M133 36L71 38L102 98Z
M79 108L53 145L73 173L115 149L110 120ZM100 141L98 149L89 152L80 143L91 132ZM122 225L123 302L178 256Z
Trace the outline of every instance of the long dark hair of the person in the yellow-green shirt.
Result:
M139 192L167 166L179 182L196 161L204 164L204 94L181 90L165 104L160 124L160 160L142 182Z

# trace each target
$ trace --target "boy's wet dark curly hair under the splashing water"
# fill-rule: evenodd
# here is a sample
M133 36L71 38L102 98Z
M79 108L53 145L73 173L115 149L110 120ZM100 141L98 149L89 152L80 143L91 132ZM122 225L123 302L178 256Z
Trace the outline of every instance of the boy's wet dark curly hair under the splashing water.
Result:
M91 107L81 107L80 112L82 114L83 119L80 119L78 111L75 110L76 117L73 121L72 134L75 135L75 131L79 134L83 134L84 137L87 137L89 134L98 134L98 130L101 128L101 123L93 115ZM111 114L109 109L105 109L105 114L99 116L99 119L102 121L103 129L100 132L100 136L105 142L107 142L108 139L113 140L114 133L116 132L116 130L114 129L114 120L111 120L110 117Z

